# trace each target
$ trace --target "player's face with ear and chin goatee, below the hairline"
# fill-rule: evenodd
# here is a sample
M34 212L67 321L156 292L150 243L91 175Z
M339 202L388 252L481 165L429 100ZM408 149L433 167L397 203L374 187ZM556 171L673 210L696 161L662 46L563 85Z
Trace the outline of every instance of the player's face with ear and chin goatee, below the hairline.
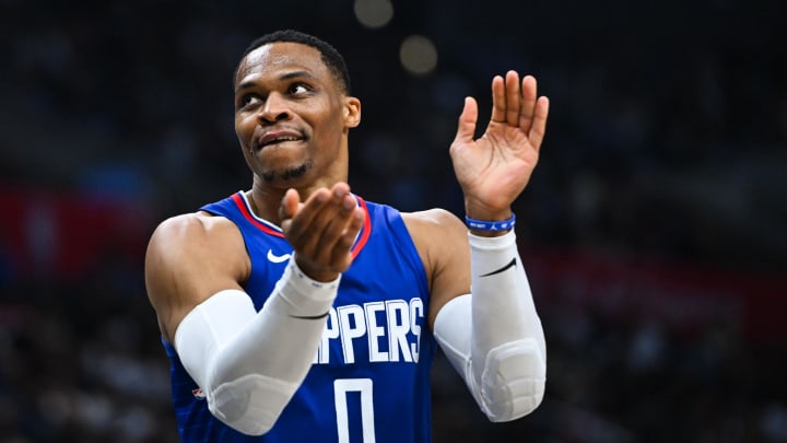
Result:
M235 78L235 132L246 162L278 187L346 179L346 132L360 118L353 103L317 49L297 43L255 49Z

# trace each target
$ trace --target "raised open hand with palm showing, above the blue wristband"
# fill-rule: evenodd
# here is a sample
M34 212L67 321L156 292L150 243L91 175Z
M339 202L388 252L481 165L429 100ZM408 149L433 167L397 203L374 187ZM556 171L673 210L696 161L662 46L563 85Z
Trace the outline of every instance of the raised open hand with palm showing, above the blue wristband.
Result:
M520 88L521 85L521 88ZM525 189L544 137L549 100L538 97L536 78L508 71L492 79L492 117L486 131L473 140L478 104L467 97L450 145L454 172L465 193L468 215L502 220Z

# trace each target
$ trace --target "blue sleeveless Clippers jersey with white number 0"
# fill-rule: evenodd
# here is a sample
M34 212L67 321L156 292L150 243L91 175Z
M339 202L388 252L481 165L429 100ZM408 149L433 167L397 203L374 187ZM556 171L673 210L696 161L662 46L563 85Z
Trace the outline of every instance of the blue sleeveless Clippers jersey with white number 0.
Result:
M240 434L208 410L171 343L173 404L183 442L407 443L431 441L430 372L435 340L426 326L423 264L400 213L365 202L366 223L314 363L273 428ZM281 230L254 215L243 193L201 208L232 220L251 259L244 289L262 307L292 247Z

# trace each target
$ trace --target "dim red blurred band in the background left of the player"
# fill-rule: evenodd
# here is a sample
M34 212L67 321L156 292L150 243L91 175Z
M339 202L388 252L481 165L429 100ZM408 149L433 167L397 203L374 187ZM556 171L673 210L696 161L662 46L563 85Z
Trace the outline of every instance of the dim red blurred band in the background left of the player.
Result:
M144 254L146 211L130 199L0 190L0 266L12 276L70 278Z

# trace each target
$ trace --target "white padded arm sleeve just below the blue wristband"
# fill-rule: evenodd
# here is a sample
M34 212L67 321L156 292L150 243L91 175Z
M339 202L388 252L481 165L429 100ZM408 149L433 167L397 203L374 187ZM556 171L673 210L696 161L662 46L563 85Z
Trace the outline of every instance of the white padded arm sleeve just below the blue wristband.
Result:
M468 235L472 294L443 306L435 338L489 419L509 421L543 399L543 329L514 231L500 237Z

